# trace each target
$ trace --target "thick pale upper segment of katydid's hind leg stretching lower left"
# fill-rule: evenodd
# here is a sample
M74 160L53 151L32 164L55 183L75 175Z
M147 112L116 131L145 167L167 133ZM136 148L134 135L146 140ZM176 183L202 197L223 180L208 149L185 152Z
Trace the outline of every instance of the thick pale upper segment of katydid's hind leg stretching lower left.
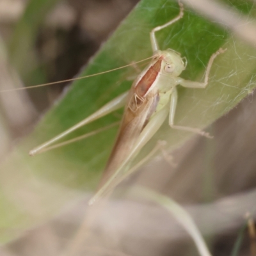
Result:
M127 95L128 95L128 92L122 93L121 95L119 95L115 99L108 102L106 105L104 105L98 111L96 111L92 115L85 118L83 121L81 121L78 124L70 127L66 131L61 132L61 134L59 134L58 136L52 138L51 140L43 143L42 145L34 148L33 150L31 150L29 152L29 155L30 156L35 156L35 154L38 154L39 152L42 152L43 150L45 151L45 148L49 147L50 145L52 145L52 143L60 140L61 138L65 137L67 134L70 134L70 132L75 131L76 129L82 127L83 125L89 124L90 122L93 122L93 121L99 119L102 116L106 116L106 115L115 111L118 108L122 108L125 105Z

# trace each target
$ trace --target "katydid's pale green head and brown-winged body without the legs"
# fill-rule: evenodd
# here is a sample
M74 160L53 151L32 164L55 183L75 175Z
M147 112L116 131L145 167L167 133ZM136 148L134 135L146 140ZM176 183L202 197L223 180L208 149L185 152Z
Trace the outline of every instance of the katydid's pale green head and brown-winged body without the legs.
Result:
M102 177L102 184L110 178L111 170L116 170L127 158L127 153L138 143L141 132L144 129L147 131L148 122L154 120L154 115L170 102L170 95L179 84L178 76L185 67L186 63L179 53L171 49L157 51L150 65L134 81L127 96L122 124ZM150 130L148 132L151 134Z

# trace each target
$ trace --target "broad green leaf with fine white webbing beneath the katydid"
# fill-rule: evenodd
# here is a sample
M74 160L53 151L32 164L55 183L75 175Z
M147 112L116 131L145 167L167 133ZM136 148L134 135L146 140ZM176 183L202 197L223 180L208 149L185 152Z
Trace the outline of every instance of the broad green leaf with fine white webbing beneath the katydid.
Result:
M174 1L141 1L81 72L81 76L148 58L152 55L150 30L178 13L179 6ZM202 81L211 54L220 47L227 48L227 52L214 61L209 86L205 90L179 87L176 124L203 129L234 108L255 87L255 49L227 29L188 10L186 6L184 18L172 27L159 31L157 39L161 49L172 48L186 56L188 67L181 77L195 81ZM4 203L1 208L12 209L12 227L1 232L2 242L12 239L24 228L49 218L72 198L77 198L82 191L96 188L113 147L117 129L109 129L84 141L33 158L28 156L28 151L129 89L131 82L125 81L125 77L131 70L117 70L73 83L62 99L40 120L35 131L2 164ZM71 137L99 129L116 120L120 120L120 111L87 125ZM191 136L194 134L174 131L166 123L148 143L145 151L151 150L159 139L168 141L169 148L173 149ZM146 153L141 156L143 154ZM19 191L25 191L33 200L22 197ZM8 203L5 202L6 193L12 195ZM8 228L15 231L10 235Z

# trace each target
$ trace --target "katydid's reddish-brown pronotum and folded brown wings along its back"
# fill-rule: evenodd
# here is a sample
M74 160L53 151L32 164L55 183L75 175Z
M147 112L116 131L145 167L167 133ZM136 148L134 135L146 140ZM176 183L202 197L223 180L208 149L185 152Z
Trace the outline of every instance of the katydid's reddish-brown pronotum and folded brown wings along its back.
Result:
M129 156L134 143L138 140L138 136L156 110L159 100L158 93L154 90L148 92L148 90L156 81L160 68L161 60L159 59L149 65L146 69L147 72L140 78L140 81L135 81L132 84L118 136L100 180L99 188Z

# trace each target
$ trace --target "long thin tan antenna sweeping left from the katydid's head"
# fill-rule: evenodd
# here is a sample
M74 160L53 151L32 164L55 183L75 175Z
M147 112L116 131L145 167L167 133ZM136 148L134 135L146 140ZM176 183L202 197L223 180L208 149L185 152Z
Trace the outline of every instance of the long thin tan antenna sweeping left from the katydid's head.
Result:
M131 66L131 65L134 65L134 64L143 62L143 61L145 61L145 60L149 60L149 59L151 59L151 58L152 58L152 56L149 57L149 58L146 58L146 59L144 59L144 60L136 61L136 62L133 62L133 63L131 63L131 64L128 64L128 65L125 65L125 66L122 66L122 67L113 68L113 69L108 70L108 71L103 71L103 72L99 72L99 73L92 74L92 75L88 75L88 76L76 77L76 78L71 78L71 79L56 81L56 82L52 82L52 83L38 84L38 85L32 85L32 86L22 87L22 88L16 88L16 89L0 90L0 93L2 93L2 92L13 92L13 91L34 89L34 88L38 88L38 87L42 87L42 86L48 86L48 85L51 85L51 84L60 84L60 83L71 82L71 81L75 81L75 80L79 80L79 79L84 79L84 78L87 78L87 77L99 76L99 75L102 75L102 74L106 74L106 73L109 73L109 72L113 72L113 71L118 70L118 69L122 69L122 68L129 67L129 66Z

